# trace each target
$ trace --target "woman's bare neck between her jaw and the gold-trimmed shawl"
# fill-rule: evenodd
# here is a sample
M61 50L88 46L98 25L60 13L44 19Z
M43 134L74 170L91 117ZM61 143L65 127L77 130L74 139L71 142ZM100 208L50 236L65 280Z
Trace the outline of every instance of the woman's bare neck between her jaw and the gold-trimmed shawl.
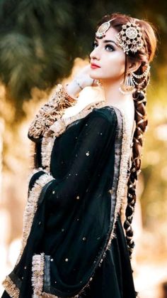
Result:
M116 82L108 82L103 80L103 90L105 94L106 105L113 105L115 107L122 107L127 101L132 101L132 95L124 95L120 92L119 87L121 80Z

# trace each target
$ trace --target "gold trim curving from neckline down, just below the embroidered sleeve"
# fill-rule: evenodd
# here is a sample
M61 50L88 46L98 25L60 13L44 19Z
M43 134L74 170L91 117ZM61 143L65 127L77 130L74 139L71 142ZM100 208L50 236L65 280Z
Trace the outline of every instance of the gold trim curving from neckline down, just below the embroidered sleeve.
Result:
M66 130L67 126L72 122L86 117L90 112L92 112L94 107L100 108L103 106L104 101L92 102L76 115L67 118L60 118L56 122L54 122L54 124L52 124L50 129L44 134L44 137L42 138L41 154L42 166L44 167L44 169L50 172L50 159L55 137L59 137Z

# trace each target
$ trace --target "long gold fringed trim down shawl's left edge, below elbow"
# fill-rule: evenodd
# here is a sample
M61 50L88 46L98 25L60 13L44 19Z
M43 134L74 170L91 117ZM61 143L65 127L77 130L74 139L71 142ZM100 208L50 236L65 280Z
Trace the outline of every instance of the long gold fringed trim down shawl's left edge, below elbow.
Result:
M33 174L42 170L41 168L35 169ZM43 170L42 170L43 171ZM33 176L33 174L31 174ZM50 182L53 177L50 174L43 174L40 178L35 181L35 185L30 191L28 196L28 203L25 207L24 216L23 216L23 235L22 235L22 245L21 245L21 252L18 256L18 260L16 265L21 260L21 256L23 254L23 250L28 240L28 236L30 234L30 229L33 224L33 218L38 206L38 198L40 196L40 192L42 191L42 187L45 186L46 183Z

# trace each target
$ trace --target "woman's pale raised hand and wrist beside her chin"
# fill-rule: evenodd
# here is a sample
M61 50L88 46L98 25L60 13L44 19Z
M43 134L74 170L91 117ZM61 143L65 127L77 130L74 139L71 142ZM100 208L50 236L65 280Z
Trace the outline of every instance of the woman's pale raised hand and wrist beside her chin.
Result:
M88 64L82 68L76 75L74 80L72 80L66 87L67 93L71 96L76 96L84 87L94 86L96 80L90 77L91 65Z

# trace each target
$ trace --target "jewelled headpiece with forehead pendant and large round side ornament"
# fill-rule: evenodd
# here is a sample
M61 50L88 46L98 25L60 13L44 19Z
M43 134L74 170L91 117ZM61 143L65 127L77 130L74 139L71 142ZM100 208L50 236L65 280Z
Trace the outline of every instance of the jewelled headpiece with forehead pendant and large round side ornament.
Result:
M105 37L105 33L110 28L110 22L115 18L112 18L110 21L102 23L98 31L96 32L97 38ZM140 50L144 46L142 40L142 28L140 28L137 23L127 22L125 25L122 25L122 30L117 33L117 46L120 46L122 50L128 54L129 51L136 53L137 50Z

